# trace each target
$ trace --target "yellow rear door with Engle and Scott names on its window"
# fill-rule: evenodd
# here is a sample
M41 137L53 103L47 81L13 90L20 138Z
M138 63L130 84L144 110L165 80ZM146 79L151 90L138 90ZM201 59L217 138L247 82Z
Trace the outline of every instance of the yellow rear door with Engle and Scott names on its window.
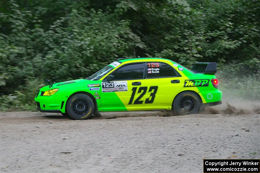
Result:
M144 108L171 109L173 97L183 88L184 79L173 67L162 62L147 62L145 74Z

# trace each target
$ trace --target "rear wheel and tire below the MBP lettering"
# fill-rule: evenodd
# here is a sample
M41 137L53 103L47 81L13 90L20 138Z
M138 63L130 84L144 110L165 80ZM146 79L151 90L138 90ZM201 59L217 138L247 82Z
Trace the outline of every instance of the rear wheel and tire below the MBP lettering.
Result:
M185 91L177 95L173 102L173 113L176 115L197 114L201 101L194 92Z

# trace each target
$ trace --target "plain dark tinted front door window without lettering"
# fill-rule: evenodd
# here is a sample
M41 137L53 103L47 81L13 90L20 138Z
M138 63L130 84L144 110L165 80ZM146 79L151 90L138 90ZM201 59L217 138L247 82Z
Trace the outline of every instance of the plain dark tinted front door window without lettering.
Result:
M144 67L144 63L129 64L118 69L112 75L114 75L114 80L143 79Z

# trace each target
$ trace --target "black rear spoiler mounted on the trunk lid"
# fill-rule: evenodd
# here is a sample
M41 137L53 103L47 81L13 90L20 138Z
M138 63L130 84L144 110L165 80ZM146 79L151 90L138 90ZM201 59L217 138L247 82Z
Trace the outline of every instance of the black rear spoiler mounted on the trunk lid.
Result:
M195 63L191 67L194 73L215 74L217 73L217 63Z

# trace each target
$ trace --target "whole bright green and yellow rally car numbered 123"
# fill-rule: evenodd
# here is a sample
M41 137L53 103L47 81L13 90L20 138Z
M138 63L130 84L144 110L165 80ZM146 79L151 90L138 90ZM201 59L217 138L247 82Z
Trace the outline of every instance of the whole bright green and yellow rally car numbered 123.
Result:
M173 110L196 114L221 104L217 63L195 63L191 70L161 58L120 58L86 79L58 82L35 96L37 110L74 120L107 111Z

